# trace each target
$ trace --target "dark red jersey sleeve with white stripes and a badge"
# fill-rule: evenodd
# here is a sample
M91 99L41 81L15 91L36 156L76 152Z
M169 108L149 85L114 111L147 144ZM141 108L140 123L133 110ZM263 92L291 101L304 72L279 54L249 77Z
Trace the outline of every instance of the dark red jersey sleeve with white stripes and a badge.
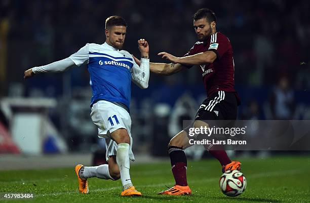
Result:
M230 47L230 42L226 36L218 35L217 33L211 36L210 46L208 51L212 51L216 54L218 59L228 51Z

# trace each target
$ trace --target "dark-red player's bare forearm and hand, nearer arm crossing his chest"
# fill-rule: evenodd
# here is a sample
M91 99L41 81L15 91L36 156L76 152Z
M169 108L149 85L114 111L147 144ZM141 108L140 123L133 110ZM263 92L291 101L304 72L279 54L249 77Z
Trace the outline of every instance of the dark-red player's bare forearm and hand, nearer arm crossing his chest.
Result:
M213 51L206 51L199 54L184 57L176 57L167 52L161 52L158 55L161 56L162 58L168 59L172 63L181 63L186 65L203 65L206 63L213 63L217 57Z

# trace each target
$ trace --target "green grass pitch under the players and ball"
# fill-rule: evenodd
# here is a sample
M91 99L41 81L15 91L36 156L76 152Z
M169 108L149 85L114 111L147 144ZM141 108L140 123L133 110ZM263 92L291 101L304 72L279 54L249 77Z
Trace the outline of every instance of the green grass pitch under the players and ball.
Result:
M157 192L173 186L170 163L131 166L131 178L142 197L122 197L121 181L89 179L89 194L79 194L72 168L0 171L0 193L33 193L34 199L0 202L310 202L310 157L240 158L247 178L246 191L227 197L219 189L217 160L188 161L191 196L165 196ZM5 163L2 163L5 164Z

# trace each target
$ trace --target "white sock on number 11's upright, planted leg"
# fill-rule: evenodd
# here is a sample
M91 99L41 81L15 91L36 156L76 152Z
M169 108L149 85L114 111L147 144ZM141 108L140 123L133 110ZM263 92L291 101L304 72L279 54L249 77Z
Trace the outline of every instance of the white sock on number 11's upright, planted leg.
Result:
M129 175L129 147L128 143L120 143L117 148L117 163L120 168L121 180L123 184L123 190L126 190L132 186L132 182Z

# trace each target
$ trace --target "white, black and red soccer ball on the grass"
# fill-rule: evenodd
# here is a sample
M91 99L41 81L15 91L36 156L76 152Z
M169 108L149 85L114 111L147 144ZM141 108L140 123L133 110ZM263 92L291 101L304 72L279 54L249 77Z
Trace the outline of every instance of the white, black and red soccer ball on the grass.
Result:
M243 173L238 170L226 171L220 178L220 188L227 196L238 196L247 187L247 180Z

